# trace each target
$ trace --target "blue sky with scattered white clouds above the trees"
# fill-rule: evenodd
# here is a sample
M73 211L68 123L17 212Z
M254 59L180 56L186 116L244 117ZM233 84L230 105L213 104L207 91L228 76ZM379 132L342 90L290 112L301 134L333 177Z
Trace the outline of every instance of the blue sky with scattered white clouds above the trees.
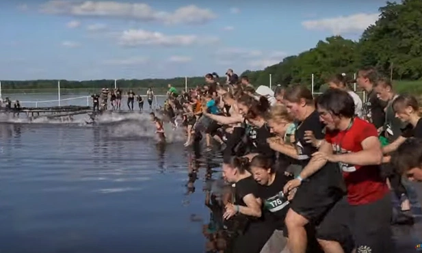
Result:
M358 40L380 0L0 3L0 80L241 74L333 35Z

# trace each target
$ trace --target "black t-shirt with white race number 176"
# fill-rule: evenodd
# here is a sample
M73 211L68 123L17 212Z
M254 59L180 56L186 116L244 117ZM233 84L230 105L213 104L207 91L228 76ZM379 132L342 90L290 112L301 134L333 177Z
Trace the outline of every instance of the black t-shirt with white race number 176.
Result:
M263 200L263 215L265 220L272 220L278 230L283 230L285 217L289 210L290 202L282 193L283 187L293 177L286 176L282 172L276 172L274 182L269 186L259 185L259 198Z

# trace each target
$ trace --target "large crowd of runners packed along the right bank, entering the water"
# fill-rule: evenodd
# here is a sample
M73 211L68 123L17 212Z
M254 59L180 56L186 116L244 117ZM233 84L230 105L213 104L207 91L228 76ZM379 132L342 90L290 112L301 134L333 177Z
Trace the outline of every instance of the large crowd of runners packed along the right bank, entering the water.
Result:
M176 125L180 116L185 146L205 133L207 149L222 152L222 174L233 185L221 198L216 226L231 231L231 242L215 250L400 252L391 224L417 226L410 189L422 202L422 186L414 183L422 181L415 96L396 94L375 68L360 69L354 80L365 101L345 75L328 79L330 88L317 97L305 85L255 90L233 70L226 83L218 80L207 74L200 88L169 90L163 118L150 114L161 141L163 121ZM395 215L393 198L400 202Z

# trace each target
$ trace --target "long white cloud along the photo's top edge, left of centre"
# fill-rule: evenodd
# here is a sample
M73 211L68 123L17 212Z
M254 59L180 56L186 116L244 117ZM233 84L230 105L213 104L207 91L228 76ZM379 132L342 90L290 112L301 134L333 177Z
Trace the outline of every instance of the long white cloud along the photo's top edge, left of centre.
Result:
M179 23L202 24L217 16L209 9L187 5L174 12L154 10L146 3L120 3L118 1L77 1L52 0L41 5L46 14L67 14L75 16L99 16L155 21L174 25Z

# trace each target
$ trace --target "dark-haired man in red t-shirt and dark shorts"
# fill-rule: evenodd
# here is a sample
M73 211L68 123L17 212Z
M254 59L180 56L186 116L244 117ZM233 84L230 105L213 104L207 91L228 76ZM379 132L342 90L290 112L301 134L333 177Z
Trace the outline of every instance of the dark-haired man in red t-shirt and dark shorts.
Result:
M354 117L353 98L342 90L328 90L319 96L317 109L326 124L326 139L313 157L339 163L357 252L395 252L391 196L380 174L382 150L377 129Z

